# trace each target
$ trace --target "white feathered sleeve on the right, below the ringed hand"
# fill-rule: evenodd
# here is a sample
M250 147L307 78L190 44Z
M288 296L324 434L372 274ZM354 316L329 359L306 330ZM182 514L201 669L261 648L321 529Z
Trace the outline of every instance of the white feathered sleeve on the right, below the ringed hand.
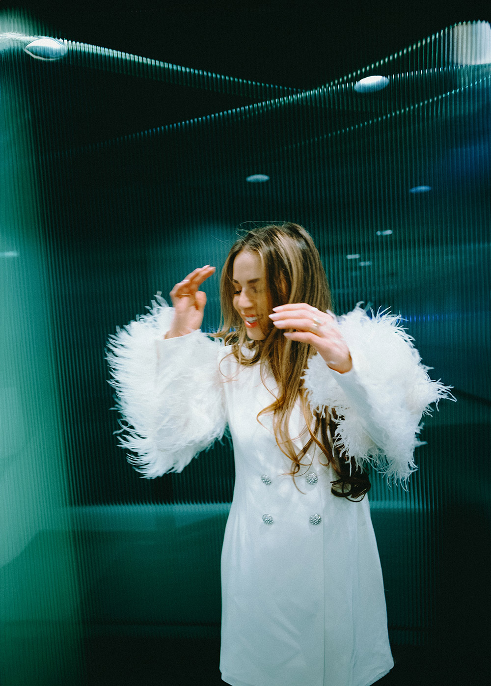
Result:
M337 323L352 370L339 374L319 354L312 357L304 375L309 403L320 412L335 408L337 449L359 466L373 464L389 480L405 481L416 469L422 415L431 414L432 403L455 398L448 386L429 377L398 317L369 317L357 306Z

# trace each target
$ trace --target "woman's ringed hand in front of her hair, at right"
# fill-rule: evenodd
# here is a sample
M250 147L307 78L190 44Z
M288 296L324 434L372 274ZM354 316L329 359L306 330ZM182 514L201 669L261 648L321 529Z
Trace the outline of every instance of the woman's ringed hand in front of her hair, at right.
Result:
M341 374L350 371L350 351L331 314L306 303L278 305L273 312L270 319L277 329L294 329L285 331L285 338L310 343L331 369Z

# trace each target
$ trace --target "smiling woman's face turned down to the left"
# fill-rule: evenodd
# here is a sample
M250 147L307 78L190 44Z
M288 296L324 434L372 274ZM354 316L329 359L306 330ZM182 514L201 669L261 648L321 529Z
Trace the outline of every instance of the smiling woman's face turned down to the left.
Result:
M233 305L246 324L248 337L263 340L271 327L268 314L272 309L261 257L241 250L234 260L232 281Z

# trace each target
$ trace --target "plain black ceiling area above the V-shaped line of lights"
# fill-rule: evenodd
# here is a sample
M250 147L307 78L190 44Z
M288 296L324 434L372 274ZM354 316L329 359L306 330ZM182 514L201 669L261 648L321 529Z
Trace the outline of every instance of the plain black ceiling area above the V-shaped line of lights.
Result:
M47 32L131 54L270 84L312 88L459 21L488 3L438 0L27 0ZM206 104L205 104L206 109Z

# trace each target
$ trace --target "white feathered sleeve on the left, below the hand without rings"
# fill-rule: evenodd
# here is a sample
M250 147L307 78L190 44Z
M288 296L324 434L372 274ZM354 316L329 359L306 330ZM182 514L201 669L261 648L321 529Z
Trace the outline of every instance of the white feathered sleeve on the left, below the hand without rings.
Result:
M156 296L149 314L110 336L110 384L123 429L119 444L148 479L180 472L225 429L221 344L202 331L164 340L173 309Z

